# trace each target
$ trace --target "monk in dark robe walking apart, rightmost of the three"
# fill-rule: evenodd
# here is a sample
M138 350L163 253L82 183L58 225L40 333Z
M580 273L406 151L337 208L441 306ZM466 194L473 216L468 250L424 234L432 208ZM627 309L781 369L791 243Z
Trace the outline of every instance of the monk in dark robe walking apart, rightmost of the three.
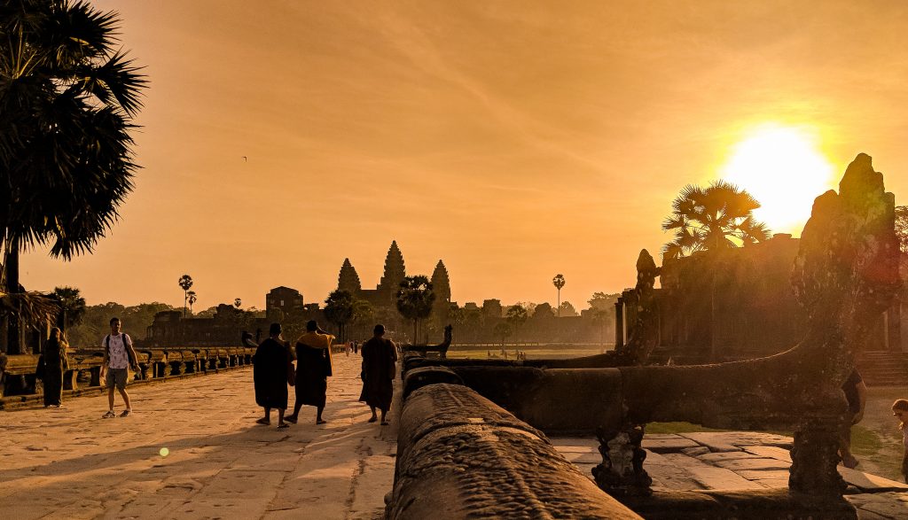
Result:
M390 339L385 339L385 326L376 325L374 336L362 344L362 392L360 401L365 401L372 410L370 423L378 420L375 408L381 410L381 426L387 426L385 418L391 407L391 397L394 395L393 380L396 374L397 345Z

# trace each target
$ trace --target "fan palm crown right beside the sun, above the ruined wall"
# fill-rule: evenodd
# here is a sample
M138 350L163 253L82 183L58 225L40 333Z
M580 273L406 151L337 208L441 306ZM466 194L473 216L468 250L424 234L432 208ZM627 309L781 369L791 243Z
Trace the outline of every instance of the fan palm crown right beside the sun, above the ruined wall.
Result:
M688 184L675 201L672 214L662 223L663 231L675 230L675 240L663 248L664 258L676 259L696 250L735 248L739 242L759 242L771 233L754 220L760 203L747 191L725 181L706 190ZM734 239L734 240L733 240Z

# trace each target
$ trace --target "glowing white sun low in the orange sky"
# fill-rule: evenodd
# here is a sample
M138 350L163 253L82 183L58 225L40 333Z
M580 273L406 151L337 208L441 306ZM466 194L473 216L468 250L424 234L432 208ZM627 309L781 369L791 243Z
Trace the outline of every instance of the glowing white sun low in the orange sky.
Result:
M800 235L814 199L834 188L834 167L817 142L811 129L761 125L735 144L720 174L760 202L754 216L770 231Z

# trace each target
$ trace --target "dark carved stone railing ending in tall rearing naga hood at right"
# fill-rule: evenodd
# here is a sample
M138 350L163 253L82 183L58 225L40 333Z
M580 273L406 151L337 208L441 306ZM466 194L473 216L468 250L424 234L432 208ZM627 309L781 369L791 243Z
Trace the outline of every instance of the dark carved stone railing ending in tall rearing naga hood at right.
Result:
M594 471L597 484L638 511L664 510L681 501L690 517L725 517L722 511L735 510L741 517L760 517L773 515L779 507L791 508L797 517L854 517L854 508L842 498L845 485L836 470L839 432L850 419L841 387L854 369L864 337L901 289L893 207L882 174L873 171L864 154L849 165L840 193L827 191L816 199L792 276L808 317L807 333L784 353L717 365L639 366L653 345L656 313L646 309L651 277L638 276L638 286L644 287L629 318L640 333L611 358L581 361L614 363L617 368L554 368L550 361L541 367L479 360L449 360L444 365L469 388L532 427L596 435L604 457ZM647 258L641 254L638 272L657 274ZM408 370L428 364L405 359ZM789 490L687 498L653 493L640 447L646 423L652 421L794 431Z

